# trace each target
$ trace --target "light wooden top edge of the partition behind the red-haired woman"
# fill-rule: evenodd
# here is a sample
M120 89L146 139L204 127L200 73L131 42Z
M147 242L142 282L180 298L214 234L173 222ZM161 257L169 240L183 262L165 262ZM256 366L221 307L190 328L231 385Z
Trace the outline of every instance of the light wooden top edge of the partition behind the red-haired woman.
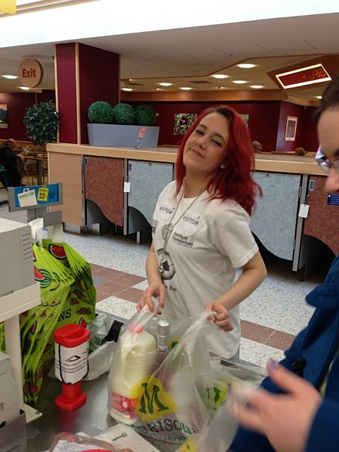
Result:
M126 158L129 160L145 160L149 162L175 163L176 150L164 150L166 148L101 148L89 145L76 145L68 143L49 143L47 152L95 155L97 157ZM309 174L311 176L325 176L316 162L293 162L287 160L270 160L258 158L255 162L256 171L281 172L288 174Z

